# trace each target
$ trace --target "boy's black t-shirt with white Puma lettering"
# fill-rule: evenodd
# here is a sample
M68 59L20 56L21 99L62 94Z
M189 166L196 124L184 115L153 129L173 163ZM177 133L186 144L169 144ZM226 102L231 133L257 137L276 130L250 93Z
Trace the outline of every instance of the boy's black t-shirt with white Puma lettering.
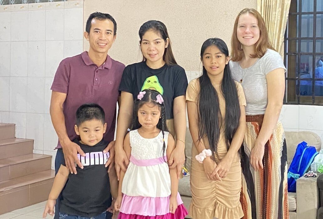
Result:
M77 166L78 173L68 175L59 210L70 215L97 216L112 202L108 168L104 167L109 153L102 152L109 142L102 139L94 146L83 145L77 139L73 142L86 154L85 158L78 154L84 168Z

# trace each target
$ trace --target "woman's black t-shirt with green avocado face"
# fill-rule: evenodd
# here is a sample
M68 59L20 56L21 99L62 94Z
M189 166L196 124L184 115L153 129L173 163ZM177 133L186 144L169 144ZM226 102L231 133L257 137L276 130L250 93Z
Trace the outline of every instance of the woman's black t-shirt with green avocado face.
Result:
M161 93L166 119L173 119L174 99L185 95L187 89L185 70L179 65L167 64L160 69L151 69L145 61L128 65L123 71L119 90L132 93L135 100L139 92L145 89Z

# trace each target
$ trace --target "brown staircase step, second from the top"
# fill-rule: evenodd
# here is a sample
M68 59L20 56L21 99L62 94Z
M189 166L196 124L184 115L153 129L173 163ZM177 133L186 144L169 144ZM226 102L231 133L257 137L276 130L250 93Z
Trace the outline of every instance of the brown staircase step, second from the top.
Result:
M9 138L0 140L0 159L32 154L34 148L33 139Z

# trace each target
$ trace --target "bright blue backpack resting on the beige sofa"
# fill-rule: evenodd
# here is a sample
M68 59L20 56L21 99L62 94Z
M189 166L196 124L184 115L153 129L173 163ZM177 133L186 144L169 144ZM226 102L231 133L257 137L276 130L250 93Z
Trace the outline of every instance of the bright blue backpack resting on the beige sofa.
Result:
M316 155L316 148L307 146L305 141L297 145L287 173L288 192L296 192L296 180L306 173Z

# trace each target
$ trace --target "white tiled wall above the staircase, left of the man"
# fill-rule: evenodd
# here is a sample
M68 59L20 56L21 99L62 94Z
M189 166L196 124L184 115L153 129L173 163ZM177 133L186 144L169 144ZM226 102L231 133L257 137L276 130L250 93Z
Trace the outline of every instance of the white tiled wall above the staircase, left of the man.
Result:
M0 5L0 122L35 139L34 153L55 157L50 86L59 62L82 51L83 1Z

